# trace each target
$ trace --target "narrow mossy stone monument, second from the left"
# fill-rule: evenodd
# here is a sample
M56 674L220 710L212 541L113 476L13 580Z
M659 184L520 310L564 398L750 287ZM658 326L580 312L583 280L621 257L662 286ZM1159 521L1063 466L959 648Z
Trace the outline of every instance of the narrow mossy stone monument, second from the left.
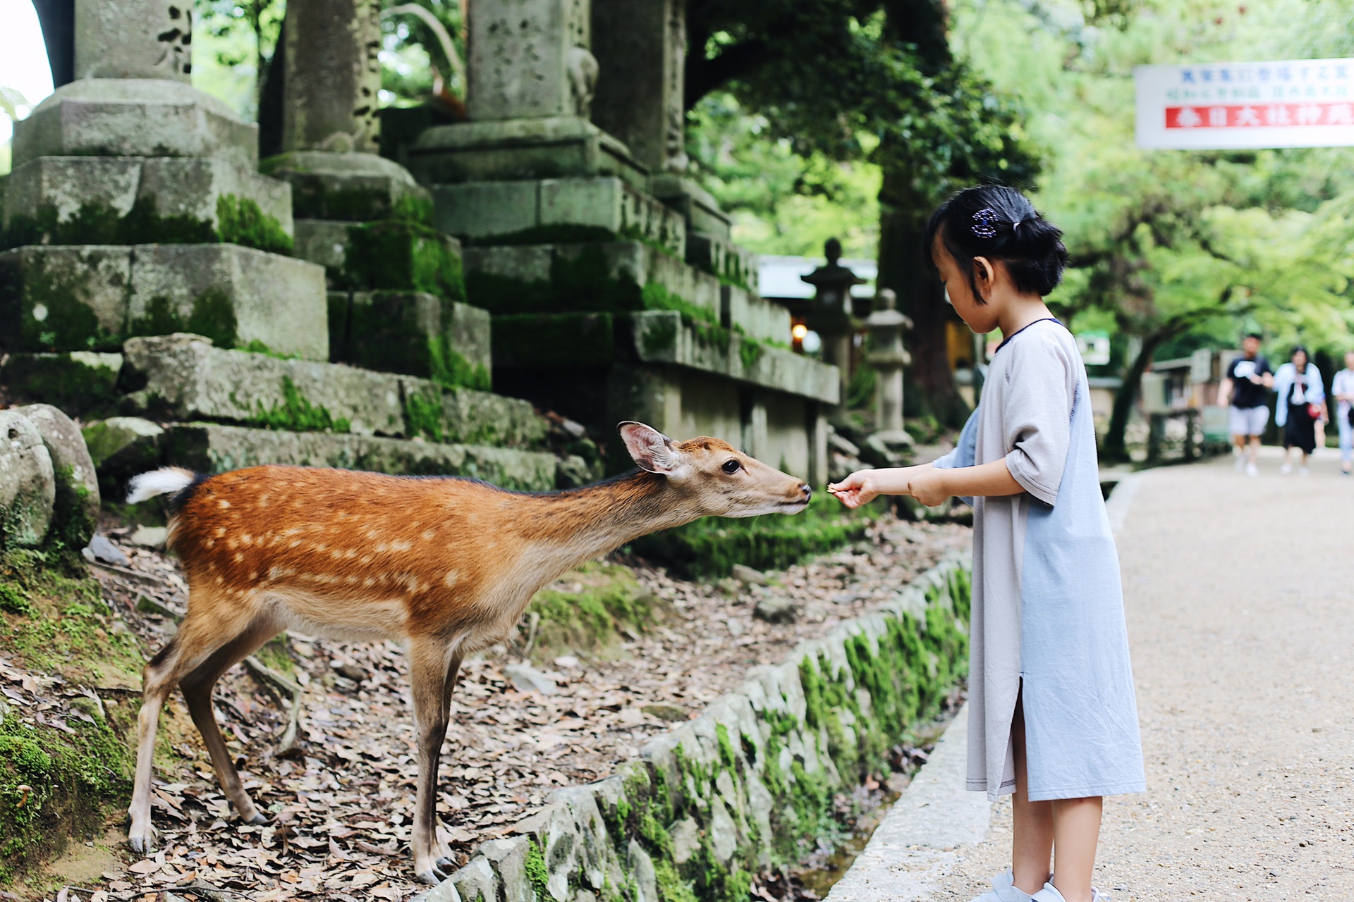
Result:
M330 360L489 388L489 314L466 304L460 245L380 145L380 3L294 0L283 58L283 153L297 256L322 264Z

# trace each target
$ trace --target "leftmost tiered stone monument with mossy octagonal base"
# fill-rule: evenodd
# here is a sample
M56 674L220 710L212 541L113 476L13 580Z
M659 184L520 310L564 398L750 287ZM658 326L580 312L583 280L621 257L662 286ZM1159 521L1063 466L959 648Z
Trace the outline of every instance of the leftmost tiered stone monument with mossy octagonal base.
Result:
M74 73L14 135L0 350L192 330L326 358L324 273L286 256L291 191L257 128L190 84L192 7L76 0Z

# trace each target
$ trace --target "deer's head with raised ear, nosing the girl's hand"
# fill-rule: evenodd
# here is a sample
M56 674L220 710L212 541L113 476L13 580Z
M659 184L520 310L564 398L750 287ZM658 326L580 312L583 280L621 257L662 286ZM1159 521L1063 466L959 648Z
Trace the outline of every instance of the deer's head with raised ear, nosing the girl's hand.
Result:
M718 438L674 442L657 429L624 422L620 437L635 464L668 480L697 517L798 514L812 491L798 476L783 473Z

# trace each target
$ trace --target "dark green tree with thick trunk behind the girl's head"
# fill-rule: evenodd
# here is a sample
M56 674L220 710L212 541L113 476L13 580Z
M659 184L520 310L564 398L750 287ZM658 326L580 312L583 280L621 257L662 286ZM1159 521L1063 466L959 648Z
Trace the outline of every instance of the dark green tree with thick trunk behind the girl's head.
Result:
M974 181L1026 184L1039 154L1010 100L949 47L938 0L692 0L686 104L727 91L830 193L822 161L879 166L881 287L913 316L913 372L933 412L965 412L948 361L949 307L919 247L930 210ZM812 65L804 65L811 60Z

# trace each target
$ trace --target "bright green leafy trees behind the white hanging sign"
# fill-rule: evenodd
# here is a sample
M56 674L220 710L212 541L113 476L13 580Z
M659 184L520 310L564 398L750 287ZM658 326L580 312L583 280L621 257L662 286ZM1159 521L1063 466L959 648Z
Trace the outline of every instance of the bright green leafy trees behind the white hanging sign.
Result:
M1347 22L1331 0L1263 9L1141 0L1097 30L1063 30L1016 0L956 8L963 47L1020 93L1049 147L1037 203L1066 231L1072 269L1049 302L1064 322L1110 326L1122 360L1106 452L1162 348L1232 348L1242 327L1317 349L1351 338L1347 293L1354 177L1331 149L1160 151L1133 142L1132 68L1147 62L1346 53L1313 26ZM1018 39L1011 39L1016 35ZM1002 43L1001 54L979 54ZM1342 49L1343 47L1343 49ZM1140 349L1125 356L1129 339Z

